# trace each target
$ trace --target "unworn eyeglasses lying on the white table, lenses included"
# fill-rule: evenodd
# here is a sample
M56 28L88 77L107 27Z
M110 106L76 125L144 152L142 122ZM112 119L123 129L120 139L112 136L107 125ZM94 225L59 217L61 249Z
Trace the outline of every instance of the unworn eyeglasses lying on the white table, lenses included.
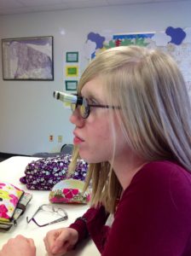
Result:
M38 224L37 220L34 217L40 211L57 213L58 215L61 216L61 218L57 218L57 219L55 219L55 220L53 220L53 221L51 221L49 223L46 223L46 224ZM52 206L52 205L49 205L49 204L44 204L44 205L38 207L38 210L36 212L34 212L34 214L32 215L32 218L29 219L28 217L26 217L26 222L30 223L31 221L33 221L35 224L38 225L38 227L45 227L45 226L47 226L49 224L55 224L55 223L67 220L67 218L68 218L67 212L64 209L58 208L58 207L55 207L55 206Z

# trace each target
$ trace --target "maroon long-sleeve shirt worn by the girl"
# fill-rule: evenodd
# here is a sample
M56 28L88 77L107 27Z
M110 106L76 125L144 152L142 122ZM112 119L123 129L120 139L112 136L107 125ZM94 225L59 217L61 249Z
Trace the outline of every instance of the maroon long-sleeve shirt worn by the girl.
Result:
M102 256L191 256L191 173L170 161L143 166L124 190L112 227L91 207L71 227Z

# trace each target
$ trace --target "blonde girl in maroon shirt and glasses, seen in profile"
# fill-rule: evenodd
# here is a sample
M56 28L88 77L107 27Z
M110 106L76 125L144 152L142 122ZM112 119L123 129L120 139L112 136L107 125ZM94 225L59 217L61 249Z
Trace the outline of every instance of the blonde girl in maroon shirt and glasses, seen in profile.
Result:
M79 156L90 163L91 207L48 232L49 255L87 236L102 256L191 255L191 108L176 62L157 49L107 49L78 96L71 169Z

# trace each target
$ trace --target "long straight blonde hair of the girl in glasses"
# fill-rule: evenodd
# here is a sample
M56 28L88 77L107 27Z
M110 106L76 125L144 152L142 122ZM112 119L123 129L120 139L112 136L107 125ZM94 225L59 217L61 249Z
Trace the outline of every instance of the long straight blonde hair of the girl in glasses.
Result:
M116 111L134 152L146 161L175 160L191 171L191 106L182 73L170 55L158 49L121 46L96 56L78 84L101 76L107 103ZM75 148L70 170L78 159ZM121 185L108 162L89 165L86 187L92 184L92 205L114 212Z

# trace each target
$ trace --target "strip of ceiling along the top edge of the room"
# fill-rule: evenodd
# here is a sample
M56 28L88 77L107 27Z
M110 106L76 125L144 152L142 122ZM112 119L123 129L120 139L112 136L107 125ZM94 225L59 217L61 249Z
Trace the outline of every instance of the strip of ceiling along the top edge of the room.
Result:
M0 0L0 15L61 9L82 9L135 3L190 2L191 0Z

